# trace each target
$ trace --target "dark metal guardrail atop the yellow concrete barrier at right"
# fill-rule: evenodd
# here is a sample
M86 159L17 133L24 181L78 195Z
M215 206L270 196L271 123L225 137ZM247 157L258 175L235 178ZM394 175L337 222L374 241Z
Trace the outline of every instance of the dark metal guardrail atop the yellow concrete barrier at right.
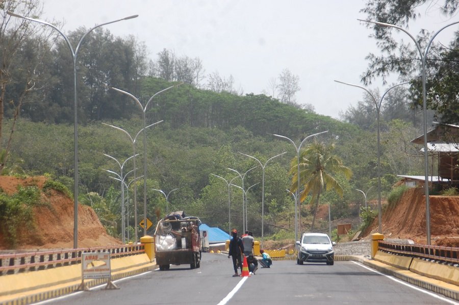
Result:
M379 241L378 249L403 256L459 264L459 248L427 245L407 245Z

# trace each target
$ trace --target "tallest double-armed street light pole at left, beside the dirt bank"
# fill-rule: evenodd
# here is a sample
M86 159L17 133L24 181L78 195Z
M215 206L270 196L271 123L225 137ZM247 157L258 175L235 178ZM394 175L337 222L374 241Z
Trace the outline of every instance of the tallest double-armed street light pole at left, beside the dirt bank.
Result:
M105 23L98 24L97 26L89 29L80 39L80 41L77 44L77 48L73 50L73 47L70 43L70 40L65 36L65 34L59 30L56 26L54 26L51 23L48 23L46 21L42 21L39 19L34 19L34 18L29 18L29 17L24 17L12 12L8 12L9 15L18 17L18 18L23 18L27 19L30 21L38 22L41 24L45 24L46 26L52 27L56 31L58 31L59 34L62 35L62 37L65 39L65 42L67 43L71 55L72 55L72 60L73 60L73 109L74 109L74 123L73 123L73 133L74 133L74 185L73 185L73 248L76 249L78 248L78 103L77 103L77 56L78 56L78 51L80 50L81 43L85 39L86 35L88 35L91 31L98 27L106 26L107 24L118 22L121 20L127 20L127 19L132 19L136 18L139 15L133 15L129 17L125 17L122 19L117 19Z

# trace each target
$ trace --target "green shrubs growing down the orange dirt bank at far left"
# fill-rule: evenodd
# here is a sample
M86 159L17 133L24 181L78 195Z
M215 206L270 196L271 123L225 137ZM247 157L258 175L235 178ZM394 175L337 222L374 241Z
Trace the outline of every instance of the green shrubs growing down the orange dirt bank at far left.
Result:
M33 229L32 210L40 204L40 190L36 186L18 187L12 196L0 193L0 230L10 246L16 245L19 227Z

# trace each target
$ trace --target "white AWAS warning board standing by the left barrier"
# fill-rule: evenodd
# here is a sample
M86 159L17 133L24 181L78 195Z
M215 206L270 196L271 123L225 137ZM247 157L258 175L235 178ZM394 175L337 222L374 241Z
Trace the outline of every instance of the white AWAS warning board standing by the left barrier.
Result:
M82 253L82 275L85 278L110 278L110 252Z

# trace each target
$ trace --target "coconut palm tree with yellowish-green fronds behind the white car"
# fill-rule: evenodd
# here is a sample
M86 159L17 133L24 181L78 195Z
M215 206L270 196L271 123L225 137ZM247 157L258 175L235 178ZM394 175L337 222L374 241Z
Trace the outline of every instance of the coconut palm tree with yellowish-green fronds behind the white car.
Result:
M325 145L314 142L300 153L300 184L303 186L303 190L300 193L299 202L311 195L310 203L314 203L311 231L314 230L320 195L333 189L343 197L343 188L336 181L334 175L344 174L347 179L352 175L352 171L343 165L343 161L333 154L334 150L334 143ZM298 181L297 158L293 158L290 165L290 174L293 175L290 191L295 192Z

